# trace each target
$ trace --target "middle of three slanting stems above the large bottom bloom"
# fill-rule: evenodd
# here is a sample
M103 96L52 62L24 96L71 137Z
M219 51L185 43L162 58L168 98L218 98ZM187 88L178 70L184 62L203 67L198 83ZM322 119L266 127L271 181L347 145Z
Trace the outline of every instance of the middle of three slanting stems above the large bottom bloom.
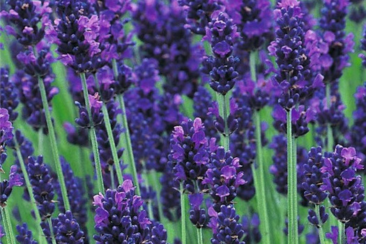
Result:
M113 132L112 132L111 121L109 119L108 109L107 109L107 106L105 105L105 102L103 102L103 105L102 105L102 112L103 112L103 116L104 116L105 128L107 129L109 146L111 147L111 151L112 151L112 158L114 161L114 166L116 167L117 178L119 179L119 185L122 185L123 176L122 176L121 165L119 165L119 155L117 154L116 144L114 143L114 136L113 136Z

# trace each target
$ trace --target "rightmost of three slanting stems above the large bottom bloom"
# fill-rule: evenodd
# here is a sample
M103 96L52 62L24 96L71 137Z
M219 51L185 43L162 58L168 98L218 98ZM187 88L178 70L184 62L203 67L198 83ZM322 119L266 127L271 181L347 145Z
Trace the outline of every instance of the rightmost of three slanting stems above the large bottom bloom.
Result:
M118 69L117 69L117 62L115 59L112 60L112 68L114 73L114 79L116 79L119 75ZM132 144L130 139L130 130L128 129L128 121L127 121L127 115L125 114L125 101L123 100L123 95L117 97L119 100L119 107L121 109L121 117L122 117L122 125L125 129L125 132L122 133L123 138L123 146L125 147L125 153L127 156L128 165L130 165L130 168L132 169L132 177L133 181L135 182L136 186L136 194L141 195L140 188L139 188L139 179L137 178L137 169L135 165L135 157L133 155L132 151Z

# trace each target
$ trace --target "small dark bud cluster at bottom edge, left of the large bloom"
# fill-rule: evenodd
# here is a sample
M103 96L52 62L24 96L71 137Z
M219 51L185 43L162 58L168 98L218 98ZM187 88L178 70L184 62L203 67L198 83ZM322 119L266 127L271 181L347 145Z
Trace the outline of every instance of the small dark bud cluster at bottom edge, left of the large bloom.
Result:
M70 211L59 214L56 229L57 243L84 244L84 232Z

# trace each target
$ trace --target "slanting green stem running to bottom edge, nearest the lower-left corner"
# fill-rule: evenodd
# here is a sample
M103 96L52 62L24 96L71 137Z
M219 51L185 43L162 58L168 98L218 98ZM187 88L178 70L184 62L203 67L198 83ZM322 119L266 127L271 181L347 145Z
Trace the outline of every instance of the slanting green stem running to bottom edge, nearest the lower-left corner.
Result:
M40 213L38 211L38 206L36 204L36 199L34 199L31 181L29 181L28 172L26 171L26 167L25 167L25 164L24 164L22 153L20 152L20 146L19 146L16 139L14 139L14 141L15 141L15 151L17 153L17 158L20 162L20 168L22 169L23 178L24 178L24 181L25 181L25 184L26 184L26 190L28 190L29 198L31 199L31 205L32 205L32 208L33 208L33 211L34 211L34 215L36 217L36 222L37 222L36 226L37 226L37 229L38 229L38 234L40 236L39 241L40 241L40 243L45 243L45 241L47 241L47 240L42 235L43 230L40 227L40 222L42 222L42 220L40 219Z

